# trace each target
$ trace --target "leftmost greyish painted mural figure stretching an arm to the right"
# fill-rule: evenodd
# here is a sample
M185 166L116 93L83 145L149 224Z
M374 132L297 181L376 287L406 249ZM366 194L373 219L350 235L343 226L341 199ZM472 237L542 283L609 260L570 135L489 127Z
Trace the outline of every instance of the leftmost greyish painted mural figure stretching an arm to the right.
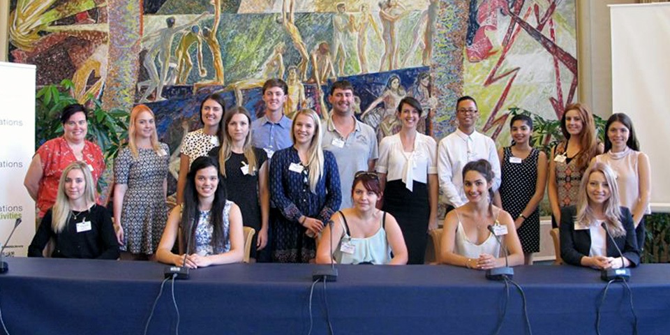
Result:
M147 90L142 94L140 102L147 102L147 98L154 93L156 90L155 101L165 100L163 98L163 86L165 81L168 79L168 69L170 68L170 54L172 54L172 40L174 35L188 29L188 27L193 26L195 22L198 22L204 14L195 18L195 20L188 22L187 24L175 27L174 24L176 20L174 17L168 17L165 19L165 24L168 27L158 29L153 33L144 36L141 40L142 45L147 43L144 47L144 50L147 50L147 54L144 55L144 61L142 65L147 70L149 74L149 79L144 80L143 82L137 83L137 91L140 91L142 87L146 87ZM158 68L156 68L156 59L158 59L158 64L161 66L161 73L158 74Z

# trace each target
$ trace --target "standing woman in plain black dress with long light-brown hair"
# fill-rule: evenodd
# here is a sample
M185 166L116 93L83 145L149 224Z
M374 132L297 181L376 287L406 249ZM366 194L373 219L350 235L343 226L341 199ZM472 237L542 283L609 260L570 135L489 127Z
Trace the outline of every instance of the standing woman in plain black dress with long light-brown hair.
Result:
M256 231L251 258L267 245L270 193L265 150L251 146L251 116L244 107L233 107L223 117L221 147L209 151L218 162L229 198L239 206L242 222Z

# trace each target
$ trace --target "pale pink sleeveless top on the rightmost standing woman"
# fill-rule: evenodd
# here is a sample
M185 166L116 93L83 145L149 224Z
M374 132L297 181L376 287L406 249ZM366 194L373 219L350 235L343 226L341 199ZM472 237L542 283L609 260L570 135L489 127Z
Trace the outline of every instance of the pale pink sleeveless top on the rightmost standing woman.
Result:
M612 168L616 176L616 185L619 188L621 206L631 211L640 201L640 175L638 173L638 158L641 152L629 147L622 152L607 151L606 154L595 156L595 161L602 162ZM647 204L645 214L651 214L651 207Z

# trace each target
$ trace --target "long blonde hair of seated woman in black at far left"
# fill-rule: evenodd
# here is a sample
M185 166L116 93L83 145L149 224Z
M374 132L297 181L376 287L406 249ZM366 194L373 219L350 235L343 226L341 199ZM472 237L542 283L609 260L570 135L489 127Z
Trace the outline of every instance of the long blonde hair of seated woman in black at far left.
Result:
M56 195L56 202L54 207L52 207L52 218L51 218L51 229L54 232L61 232L63 228L70 220L70 198L68 198L67 193L65 193L65 179L68 177L68 173L72 170L81 170L84 174L84 200L88 203L96 202L96 193L94 191L93 176L91 176L91 170L89 170L89 165L86 162L72 162L68 165L63 173L61 174L61 179L58 183L58 192Z

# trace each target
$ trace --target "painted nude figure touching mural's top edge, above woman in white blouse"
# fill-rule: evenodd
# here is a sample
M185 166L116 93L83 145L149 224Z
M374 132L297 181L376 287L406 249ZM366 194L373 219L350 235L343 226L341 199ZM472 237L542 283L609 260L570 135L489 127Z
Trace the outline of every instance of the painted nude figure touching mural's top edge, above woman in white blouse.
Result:
M380 72L398 68L398 31L396 23L408 11L398 0L386 0L379 3L379 17L382 19L382 38L384 40L384 54Z

